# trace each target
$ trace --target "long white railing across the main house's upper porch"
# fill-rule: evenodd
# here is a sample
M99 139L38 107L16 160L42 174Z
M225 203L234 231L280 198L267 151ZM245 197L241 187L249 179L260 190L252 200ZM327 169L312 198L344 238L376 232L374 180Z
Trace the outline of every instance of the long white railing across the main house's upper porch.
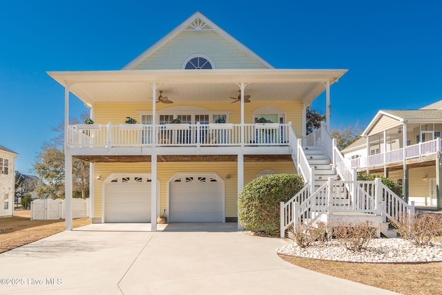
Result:
M289 129L289 124L244 124L242 137L240 124L78 124L68 127L66 144L70 148L288 146Z

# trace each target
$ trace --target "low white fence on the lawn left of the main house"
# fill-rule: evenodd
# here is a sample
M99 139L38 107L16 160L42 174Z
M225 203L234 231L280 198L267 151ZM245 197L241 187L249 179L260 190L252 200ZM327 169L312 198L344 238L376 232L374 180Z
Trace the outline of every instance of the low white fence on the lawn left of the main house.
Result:
M31 220L56 220L64 219L65 201L62 199L34 200L30 203ZM89 216L89 201L72 199L73 218L85 218Z

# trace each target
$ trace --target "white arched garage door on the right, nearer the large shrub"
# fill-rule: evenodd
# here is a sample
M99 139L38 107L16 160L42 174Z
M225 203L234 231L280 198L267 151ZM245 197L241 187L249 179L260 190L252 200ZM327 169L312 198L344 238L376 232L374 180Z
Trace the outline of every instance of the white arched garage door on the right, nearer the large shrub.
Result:
M169 187L171 222L224 222L224 184L216 173L180 173Z

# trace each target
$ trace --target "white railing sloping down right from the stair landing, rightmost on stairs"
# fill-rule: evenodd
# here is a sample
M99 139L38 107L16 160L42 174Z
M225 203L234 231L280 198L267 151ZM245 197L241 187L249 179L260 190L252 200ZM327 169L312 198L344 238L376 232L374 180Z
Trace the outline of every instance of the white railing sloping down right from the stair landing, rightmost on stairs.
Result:
M404 214L414 213L414 201L408 204L381 181L379 183L379 193L383 201L382 213L385 218L399 220Z

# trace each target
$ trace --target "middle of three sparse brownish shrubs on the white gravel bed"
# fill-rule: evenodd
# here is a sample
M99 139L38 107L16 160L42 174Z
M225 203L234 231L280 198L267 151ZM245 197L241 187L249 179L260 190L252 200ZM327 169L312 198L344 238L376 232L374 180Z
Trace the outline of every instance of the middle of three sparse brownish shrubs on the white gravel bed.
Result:
M376 229L373 222L329 222L329 231L338 240L340 245L347 250L361 251L367 248L369 241L376 234Z

